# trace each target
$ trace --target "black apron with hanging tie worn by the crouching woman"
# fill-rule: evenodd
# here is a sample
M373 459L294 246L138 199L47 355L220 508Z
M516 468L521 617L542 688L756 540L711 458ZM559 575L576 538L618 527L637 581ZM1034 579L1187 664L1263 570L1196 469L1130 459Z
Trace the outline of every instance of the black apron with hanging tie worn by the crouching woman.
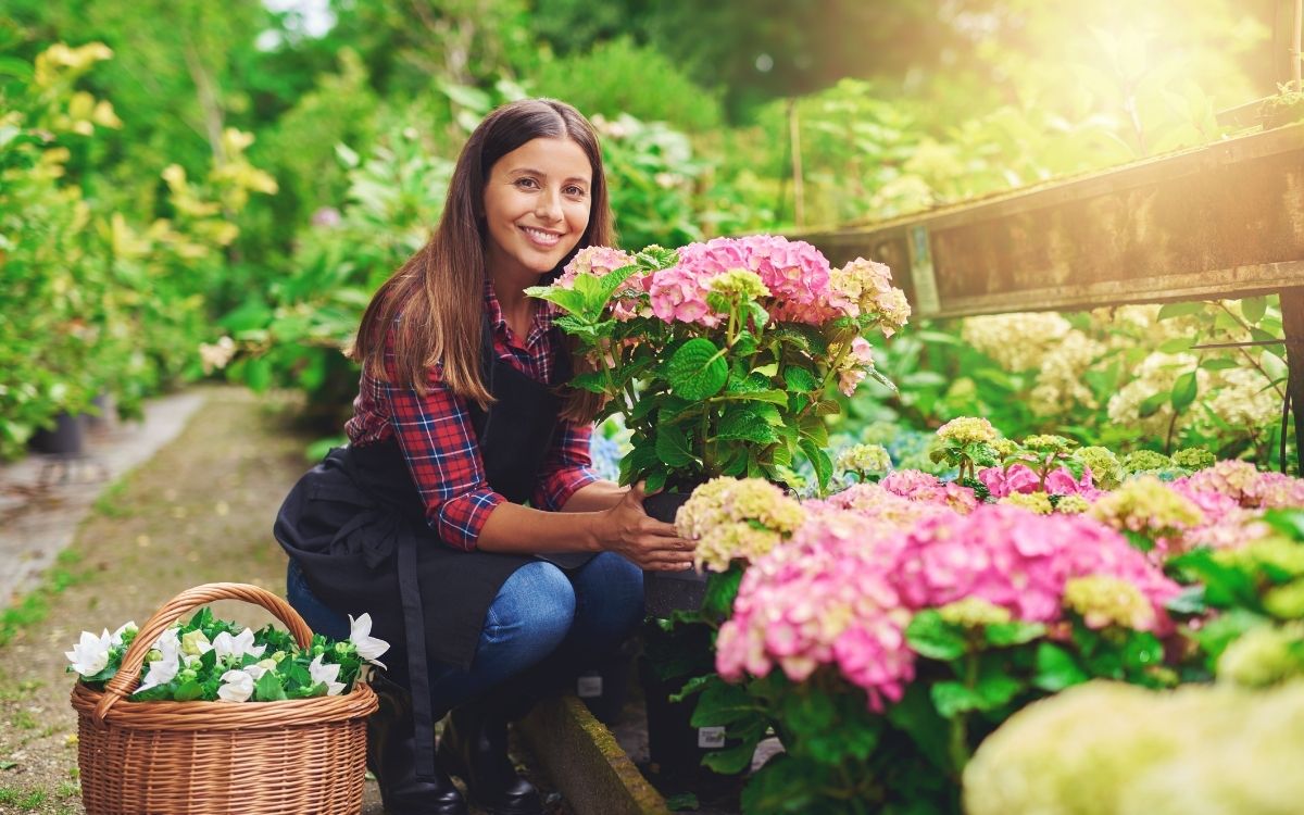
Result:
M489 409L469 403L471 424L489 486L524 503L552 447L561 398L498 359L488 322L481 335L485 381L496 402ZM565 382L570 370L566 355L559 357L557 381ZM376 636L406 644L419 768L434 764L428 660L468 669L489 605L526 563L545 559L570 571L593 557L447 546L425 522L421 496L394 437L331 450L291 490L274 533L327 606L342 614L366 612Z

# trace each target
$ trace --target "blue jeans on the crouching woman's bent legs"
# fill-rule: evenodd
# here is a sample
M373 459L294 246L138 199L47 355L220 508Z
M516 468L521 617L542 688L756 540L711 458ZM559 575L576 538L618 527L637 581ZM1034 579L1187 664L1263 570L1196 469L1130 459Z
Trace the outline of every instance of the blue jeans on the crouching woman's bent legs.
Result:
M348 619L313 596L293 558L286 584L289 605L313 631L348 639ZM604 552L571 575L542 561L527 563L507 578L489 605L471 668L432 662L436 717L550 655L576 672L593 666L642 618L643 572L615 553ZM395 668L394 661L387 664Z

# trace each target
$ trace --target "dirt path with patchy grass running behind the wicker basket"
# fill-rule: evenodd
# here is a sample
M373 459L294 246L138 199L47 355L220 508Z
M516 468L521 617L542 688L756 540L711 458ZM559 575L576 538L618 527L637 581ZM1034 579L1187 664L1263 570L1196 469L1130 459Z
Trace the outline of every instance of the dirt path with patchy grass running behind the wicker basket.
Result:
M295 403L241 389L201 389L181 434L106 485L44 583L5 614L0 645L0 812L80 814L77 720L64 651L82 630L143 623L201 583L253 583L284 596L286 556L271 537L280 499L309 463L292 429ZM26 609L18 614L16 609ZM35 609L35 610L33 610ZM261 626L262 609L235 601L219 617ZM571 815L528 768L549 815ZM363 815L381 815L368 780Z

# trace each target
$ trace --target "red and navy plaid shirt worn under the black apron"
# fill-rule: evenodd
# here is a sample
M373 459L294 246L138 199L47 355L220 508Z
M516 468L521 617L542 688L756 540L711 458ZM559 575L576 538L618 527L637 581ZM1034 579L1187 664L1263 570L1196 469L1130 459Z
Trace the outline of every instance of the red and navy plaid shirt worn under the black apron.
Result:
M536 382L553 385L557 356L565 352L557 331L552 330L556 308L540 304L524 343L507 327L498 297L488 284L485 312L498 357ZM443 383L441 364L430 369L425 396L411 387L394 385L398 377L391 346L385 352L385 370L390 382L363 372L353 417L344 425L348 441L361 447L396 436L425 502L426 523L443 542L471 552L489 514L506 498L493 492L485 480L467 403ZM593 426L558 421L561 426L529 501L537 509L552 511L561 510L579 488L599 480L589 469L588 445Z

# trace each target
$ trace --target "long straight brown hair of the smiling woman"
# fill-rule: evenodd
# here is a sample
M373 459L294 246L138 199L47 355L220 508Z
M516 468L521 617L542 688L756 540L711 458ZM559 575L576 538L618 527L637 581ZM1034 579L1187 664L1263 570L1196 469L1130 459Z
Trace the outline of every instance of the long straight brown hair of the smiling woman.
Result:
M372 376L386 378L386 333L393 326L399 385L425 394L429 368L442 361L443 382L454 394L481 407L493 402L480 366L488 240L482 216L485 180L498 159L536 138L571 140L588 156L593 171L588 228L552 275L556 276L579 249L614 244L602 151L593 125L574 107L556 99L503 104L480 123L462 147L443 215L430 240L377 289L363 314L348 355ZM570 353L569 343L566 348ZM563 415L579 420L592 417L597 408L595 396L588 391L567 394Z

